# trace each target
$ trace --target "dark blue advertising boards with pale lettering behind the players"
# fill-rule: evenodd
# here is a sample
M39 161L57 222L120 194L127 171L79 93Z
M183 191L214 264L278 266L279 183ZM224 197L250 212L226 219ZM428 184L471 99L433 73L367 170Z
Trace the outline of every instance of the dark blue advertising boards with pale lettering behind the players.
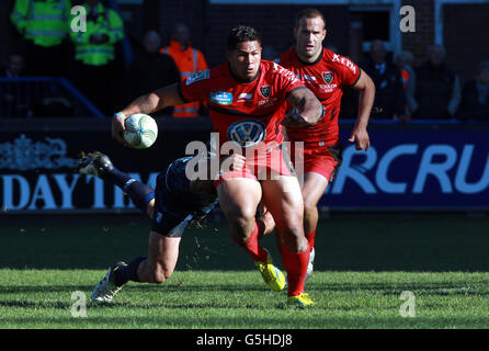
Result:
M206 117L161 117L157 143L135 150L111 138L110 120L93 121L0 120L1 216L137 212L120 189L71 171L80 152L105 152L153 185L189 141L205 141L212 131ZM320 201L323 210L489 210L489 124L373 122L367 152L346 141L351 127L351 121L341 123L342 166Z

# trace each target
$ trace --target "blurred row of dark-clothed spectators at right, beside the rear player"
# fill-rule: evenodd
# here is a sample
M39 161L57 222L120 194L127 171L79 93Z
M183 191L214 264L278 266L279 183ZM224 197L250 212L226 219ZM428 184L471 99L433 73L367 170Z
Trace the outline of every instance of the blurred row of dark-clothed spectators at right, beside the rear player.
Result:
M489 121L489 61L481 61L475 77L464 84L447 66L442 45L430 45L423 63L418 67L413 63L411 53L389 59L385 44L372 42L368 58L360 66L376 88L373 120ZM345 100L354 105L356 99L349 94Z

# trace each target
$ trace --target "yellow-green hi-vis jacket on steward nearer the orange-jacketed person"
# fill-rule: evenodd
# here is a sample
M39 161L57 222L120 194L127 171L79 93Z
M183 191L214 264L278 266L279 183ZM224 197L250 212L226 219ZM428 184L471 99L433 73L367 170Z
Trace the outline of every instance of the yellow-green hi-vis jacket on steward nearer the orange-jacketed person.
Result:
M71 32L75 58L84 65L103 66L114 59L115 43L124 37L124 23L112 9L99 1L88 1L87 31Z

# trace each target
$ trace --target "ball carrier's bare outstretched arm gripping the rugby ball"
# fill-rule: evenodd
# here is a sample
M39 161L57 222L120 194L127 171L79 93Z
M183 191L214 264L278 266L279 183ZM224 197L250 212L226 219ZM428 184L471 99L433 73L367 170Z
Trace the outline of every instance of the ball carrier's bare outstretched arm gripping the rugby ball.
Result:
M179 92L179 83L157 89L134 100L127 107L117 112L112 120L112 137L127 145L123 137L124 121L135 113L151 114L164 107L184 103Z

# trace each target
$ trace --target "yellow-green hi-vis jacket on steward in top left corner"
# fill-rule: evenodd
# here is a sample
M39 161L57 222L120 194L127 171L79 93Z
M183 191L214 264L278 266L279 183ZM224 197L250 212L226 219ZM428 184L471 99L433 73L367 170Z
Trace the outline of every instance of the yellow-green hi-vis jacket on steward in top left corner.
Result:
M68 34L70 11L70 0L16 0L10 20L24 38L55 46Z

